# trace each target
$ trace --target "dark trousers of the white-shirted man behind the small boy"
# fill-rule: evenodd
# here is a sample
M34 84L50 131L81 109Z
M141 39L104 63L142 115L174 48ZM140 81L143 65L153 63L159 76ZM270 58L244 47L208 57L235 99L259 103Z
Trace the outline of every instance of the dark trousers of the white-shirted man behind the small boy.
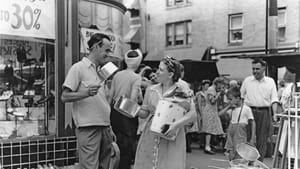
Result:
M256 123L256 148L260 153L258 160L263 161L267 153L267 143L272 136L272 114L270 108L251 107Z

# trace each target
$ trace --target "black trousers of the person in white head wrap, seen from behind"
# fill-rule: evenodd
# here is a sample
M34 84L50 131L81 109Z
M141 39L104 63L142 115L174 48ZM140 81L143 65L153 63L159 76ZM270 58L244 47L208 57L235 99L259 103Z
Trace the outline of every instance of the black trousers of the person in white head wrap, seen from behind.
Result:
M138 119L128 118L120 114L113 106L111 110L111 125L120 148L119 169L130 169L131 162L135 156Z

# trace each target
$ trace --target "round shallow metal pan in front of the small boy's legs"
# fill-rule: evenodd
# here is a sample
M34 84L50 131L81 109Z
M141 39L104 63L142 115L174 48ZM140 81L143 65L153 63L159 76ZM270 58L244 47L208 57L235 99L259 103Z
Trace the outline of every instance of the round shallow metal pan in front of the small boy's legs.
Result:
M237 153L245 160L256 161L260 154L256 147L248 143L240 143L236 146Z

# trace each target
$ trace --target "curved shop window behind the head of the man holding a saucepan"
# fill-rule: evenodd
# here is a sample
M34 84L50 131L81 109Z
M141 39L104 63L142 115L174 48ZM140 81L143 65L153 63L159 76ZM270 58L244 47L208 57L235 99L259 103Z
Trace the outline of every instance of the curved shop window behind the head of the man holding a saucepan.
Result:
M123 13L101 1L79 0L81 55L88 53L87 41L94 33L108 35L112 41L112 56L122 58Z

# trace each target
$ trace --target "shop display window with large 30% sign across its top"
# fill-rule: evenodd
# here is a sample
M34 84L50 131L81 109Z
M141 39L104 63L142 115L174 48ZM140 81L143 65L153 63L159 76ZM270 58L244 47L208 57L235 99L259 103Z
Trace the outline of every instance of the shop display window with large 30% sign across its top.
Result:
M55 133L55 0L4 1L0 138Z

